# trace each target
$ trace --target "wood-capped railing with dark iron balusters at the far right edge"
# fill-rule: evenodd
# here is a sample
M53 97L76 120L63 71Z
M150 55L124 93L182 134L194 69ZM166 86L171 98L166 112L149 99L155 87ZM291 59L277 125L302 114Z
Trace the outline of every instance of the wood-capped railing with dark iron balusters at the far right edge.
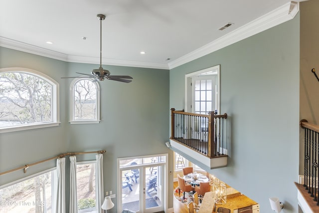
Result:
M307 120L300 121L304 131L304 190L308 193L312 202L308 205L313 209L314 203L319 206L318 199L318 166L319 166L319 126L309 123ZM310 200L310 199L306 199ZM316 212L316 211L315 211Z

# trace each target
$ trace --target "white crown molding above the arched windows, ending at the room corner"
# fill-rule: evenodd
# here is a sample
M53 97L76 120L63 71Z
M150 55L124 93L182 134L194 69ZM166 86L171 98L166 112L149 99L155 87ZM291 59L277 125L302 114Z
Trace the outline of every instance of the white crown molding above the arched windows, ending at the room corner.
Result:
M97 58L97 57L67 55L64 53L52 51L49 49L30 45L27 43L23 43L20 41L12 40L12 39L1 37L1 36L0 36L0 46L6 47L9 49L19 50L22 52L35 54L35 55L40 55L40 56L44 56L48 58L53 58L53 59L57 59L61 61L66 61L66 62L100 64L100 58ZM168 65L166 63L150 63L150 62L127 61L127 60L108 59L108 58L102 58L102 63L107 65L115 65L115 66L168 69Z

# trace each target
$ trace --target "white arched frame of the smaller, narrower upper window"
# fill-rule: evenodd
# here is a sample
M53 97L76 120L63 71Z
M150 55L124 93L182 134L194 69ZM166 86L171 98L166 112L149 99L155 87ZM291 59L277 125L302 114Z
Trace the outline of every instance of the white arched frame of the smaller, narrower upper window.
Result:
M75 86L77 83L79 83L80 81L91 81L91 83L93 85L95 85L95 112L93 115L92 119L87 119L87 118L83 118L83 119L76 119L75 115ZM95 79L93 78L87 78L87 77L83 77L83 78L75 78L70 85L70 124L96 124L96 123L100 123L100 85L98 84L98 82L94 81Z

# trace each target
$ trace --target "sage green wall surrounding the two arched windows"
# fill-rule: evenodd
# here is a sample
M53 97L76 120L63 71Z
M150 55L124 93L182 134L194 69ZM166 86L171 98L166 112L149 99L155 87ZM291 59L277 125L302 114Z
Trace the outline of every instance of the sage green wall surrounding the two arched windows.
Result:
M164 144L169 135L169 118L165 116L169 114L168 70L103 65L113 75L130 75L134 79L128 84L108 80L99 82L102 121L99 124L70 125L69 85L72 79L60 77L77 76L75 72L90 73L99 65L68 63L0 47L0 68L4 67L34 69L59 82L61 124L58 127L0 134L1 172L65 152L105 149L104 191L117 193L117 158L169 152ZM95 160L95 155L77 157L77 161L87 160ZM69 163L68 158L66 162ZM0 185L53 166L55 161L30 167L26 174L20 170L2 175ZM68 212L68 190L66 192ZM115 208L109 213L117 212L116 199L113 202Z

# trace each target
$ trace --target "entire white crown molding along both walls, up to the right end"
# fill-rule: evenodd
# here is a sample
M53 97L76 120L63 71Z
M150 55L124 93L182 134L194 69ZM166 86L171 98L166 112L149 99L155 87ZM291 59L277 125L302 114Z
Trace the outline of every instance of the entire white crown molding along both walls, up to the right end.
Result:
M145 67L145 68L156 68L156 69L172 69L194 59L217 51L230 44L238 42L242 39L248 38L266 29L274 27L278 24L293 19L299 11L299 2L288 2L283 6L249 22L248 24L229 32L228 34L176 59L168 64L166 63L150 63L141 61L127 61L118 59L107 59L102 58L102 64L116 65L116 66L132 66L132 67ZM0 36L0 46L15 49L23 52L28 52L44 57L54 58L66 62L76 63L90 63L99 64L100 58L97 57L84 57L67 55L64 53L52 51L38 46L33 46L27 43L19 42L16 40L8 39Z

